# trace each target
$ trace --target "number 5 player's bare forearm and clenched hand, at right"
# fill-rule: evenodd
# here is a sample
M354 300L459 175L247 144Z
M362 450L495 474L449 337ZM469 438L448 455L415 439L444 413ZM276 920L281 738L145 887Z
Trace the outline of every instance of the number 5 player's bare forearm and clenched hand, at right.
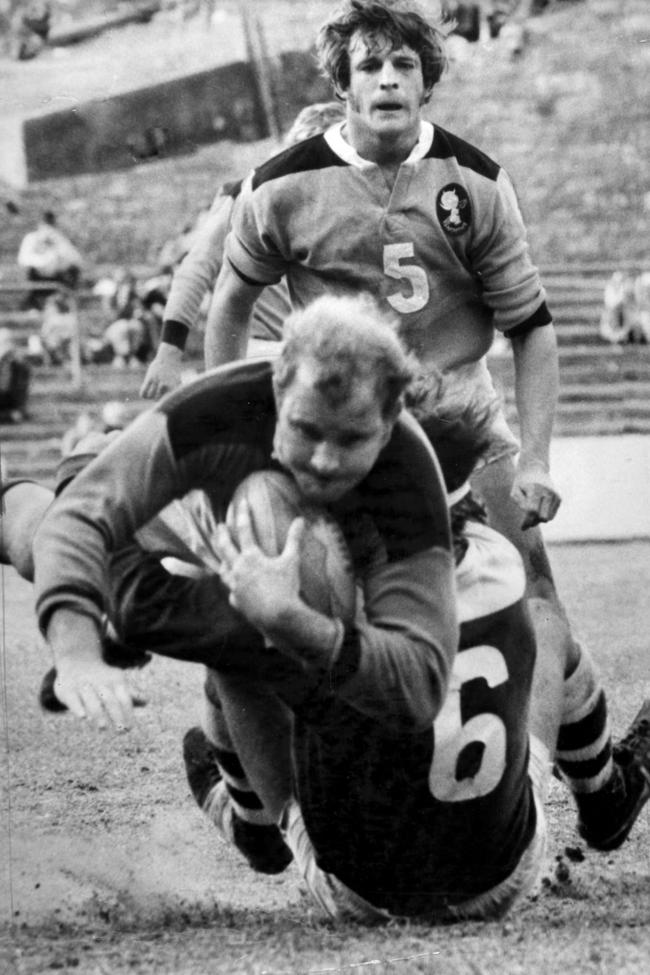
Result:
M522 528L551 521L560 506L550 475L550 444L558 398L559 368L551 324L512 337L515 397L521 454L512 497L524 512Z

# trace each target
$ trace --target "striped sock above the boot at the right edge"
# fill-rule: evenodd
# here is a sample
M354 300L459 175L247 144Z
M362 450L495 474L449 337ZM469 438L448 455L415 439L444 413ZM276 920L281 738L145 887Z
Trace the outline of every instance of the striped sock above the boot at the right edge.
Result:
M580 807L611 780L614 765L605 692L589 653L564 681L564 708L555 762Z

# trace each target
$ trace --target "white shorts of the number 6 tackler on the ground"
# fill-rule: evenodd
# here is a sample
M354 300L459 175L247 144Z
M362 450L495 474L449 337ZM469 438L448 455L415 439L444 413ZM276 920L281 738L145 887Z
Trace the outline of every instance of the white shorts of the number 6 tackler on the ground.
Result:
M471 900L449 905L444 913L436 914L436 921L444 923L503 917L515 904L535 892L546 860L547 826L544 803L551 767L548 749L539 738L531 735L528 778L535 803L537 824L530 843L522 853L517 866L505 880ZM361 924L418 920L413 917L400 918L383 908L375 907L342 883L334 874L321 870L316 863L314 848L295 799L284 811L282 831L310 894L328 917L337 921L356 921ZM430 923L432 919L427 917L423 920Z

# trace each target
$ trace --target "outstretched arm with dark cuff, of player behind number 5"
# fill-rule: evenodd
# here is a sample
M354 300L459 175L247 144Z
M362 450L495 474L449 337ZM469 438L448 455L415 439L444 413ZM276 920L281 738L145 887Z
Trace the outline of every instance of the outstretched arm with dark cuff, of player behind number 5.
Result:
M232 196L217 196L205 226L174 273L160 344L140 389L145 399L159 399L180 385L187 338L217 280L233 204Z

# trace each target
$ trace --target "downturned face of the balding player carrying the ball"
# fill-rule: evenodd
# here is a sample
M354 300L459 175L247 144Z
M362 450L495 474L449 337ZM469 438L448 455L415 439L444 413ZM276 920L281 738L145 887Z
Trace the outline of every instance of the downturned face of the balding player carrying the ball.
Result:
M275 452L307 500L332 504L369 473L392 428L371 379L333 405L315 388L313 365L302 363L278 406Z

